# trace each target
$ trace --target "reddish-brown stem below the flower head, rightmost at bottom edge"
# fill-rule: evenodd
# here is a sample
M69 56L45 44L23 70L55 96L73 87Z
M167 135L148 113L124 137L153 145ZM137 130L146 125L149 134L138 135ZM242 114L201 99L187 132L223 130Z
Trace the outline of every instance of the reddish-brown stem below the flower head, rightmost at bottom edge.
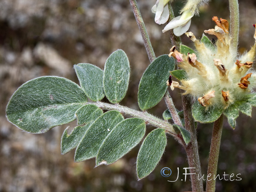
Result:
M213 124L213 131L212 131L212 141L211 141L211 148L210 148L210 155L209 155L209 163L208 163L208 170L207 176L211 174L211 176L217 175L217 166L218 166L218 159L219 159L219 151L220 151L220 140L221 140L221 133L222 133L222 126L223 126L223 114L217 119ZM210 180L211 178L211 180ZM210 177L209 180L206 181L206 192L214 192L215 191L215 181L214 178Z

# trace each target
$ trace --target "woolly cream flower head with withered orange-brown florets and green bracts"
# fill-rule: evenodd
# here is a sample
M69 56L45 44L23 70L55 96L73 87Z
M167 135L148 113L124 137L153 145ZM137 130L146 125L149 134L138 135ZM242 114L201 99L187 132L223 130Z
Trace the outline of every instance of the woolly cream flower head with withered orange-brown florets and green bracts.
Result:
M219 20L218 17L212 20L216 23L215 28L204 32L217 36L216 43L212 43L205 35L199 41L192 32L188 32L186 35L194 42L196 51L185 45L181 45L180 52L175 46L171 48L169 56L174 57L182 69L171 73L181 84L172 81L170 76L167 85L172 90L183 89L184 94L196 99L192 112L197 121L212 122L224 112L229 124L235 127L239 110L251 115L252 106L255 106L253 89L256 87L256 73L252 69L252 62L255 57L256 31L255 44L251 50L238 55L236 48L231 45L228 21ZM180 78L177 73L182 73L183 77ZM204 119L207 113L212 113L214 117L209 117L211 120Z

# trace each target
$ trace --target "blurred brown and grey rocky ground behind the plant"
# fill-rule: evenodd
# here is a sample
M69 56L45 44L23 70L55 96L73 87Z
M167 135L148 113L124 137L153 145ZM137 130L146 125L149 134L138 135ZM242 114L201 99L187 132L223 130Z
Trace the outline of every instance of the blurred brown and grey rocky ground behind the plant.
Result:
M172 47L164 25L154 22L151 7L156 0L138 0L156 56L168 54ZM182 2L174 1L178 16ZM256 2L240 1L240 48L254 43ZM192 19L190 31L199 37L214 27L212 17L228 19L228 0L212 0ZM186 36L184 44L190 45ZM13 92L26 81L39 76L62 76L78 83L73 70L77 63L92 63L100 68L116 49L123 49L130 60L131 82L122 105L138 109L140 77L149 65L137 23L128 0L0 0L0 192L125 192L190 190L190 181L175 180L177 167L188 167L185 151L168 137L165 154L155 171L140 181L136 177L139 146L116 163L94 168L95 159L74 163L74 150L60 155L60 138L67 127L53 128L45 134L29 134L6 120L6 104ZM171 92L181 109L180 93ZM161 116L166 109L160 102L150 110ZM252 118L241 115L232 130L224 122L218 173L240 173L242 180L217 180L216 191L256 191L256 111ZM75 126L76 122L70 126ZM152 128L148 128L148 132ZM212 124L198 125L202 172L206 175ZM173 174L164 178L163 167ZM181 175L180 173L180 175ZM181 176L180 176L181 178Z

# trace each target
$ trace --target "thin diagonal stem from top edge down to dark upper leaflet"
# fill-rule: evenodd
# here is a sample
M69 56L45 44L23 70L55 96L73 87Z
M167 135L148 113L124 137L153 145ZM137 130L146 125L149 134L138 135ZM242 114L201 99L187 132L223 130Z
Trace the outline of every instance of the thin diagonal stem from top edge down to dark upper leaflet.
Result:
M137 1L136 0L130 0L130 4L132 5L132 11L133 11L135 19L138 23L138 26L139 26L139 29L140 29L140 34L142 36L146 51L148 53L148 59L150 60L150 62L152 62L153 60L156 59L156 55L155 55L155 52L154 52L153 47L151 45L151 42L149 40L148 32L147 32L146 26L144 24L144 21L141 17Z

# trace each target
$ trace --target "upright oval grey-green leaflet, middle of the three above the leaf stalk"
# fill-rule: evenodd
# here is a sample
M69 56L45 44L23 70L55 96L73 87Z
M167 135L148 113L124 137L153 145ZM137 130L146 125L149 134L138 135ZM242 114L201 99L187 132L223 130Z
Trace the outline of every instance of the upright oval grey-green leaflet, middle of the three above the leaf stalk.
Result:
M103 87L111 103L118 103L124 98L130 70L128 57L123 50L117 50L108 57L103 72Z

